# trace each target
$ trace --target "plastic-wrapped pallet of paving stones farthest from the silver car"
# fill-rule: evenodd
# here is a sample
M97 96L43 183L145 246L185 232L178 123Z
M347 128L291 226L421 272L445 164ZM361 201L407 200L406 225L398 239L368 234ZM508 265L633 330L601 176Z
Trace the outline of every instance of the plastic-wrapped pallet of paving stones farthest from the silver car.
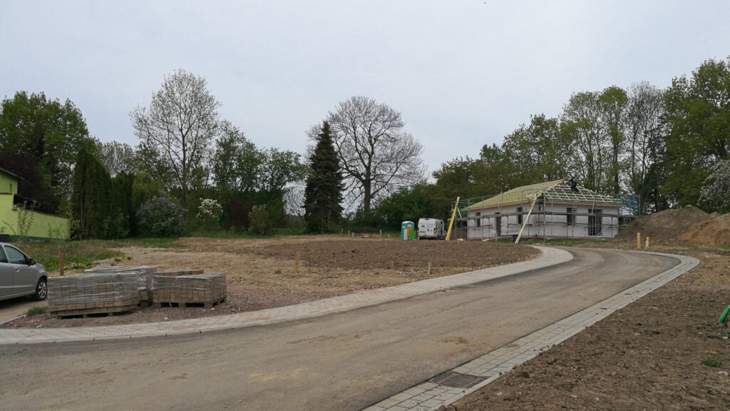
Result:
M193 303L218 303L227 295L226 274L196 274L189 276L153 276L153 304L192 306ZM191 303L191 304L188 304Z

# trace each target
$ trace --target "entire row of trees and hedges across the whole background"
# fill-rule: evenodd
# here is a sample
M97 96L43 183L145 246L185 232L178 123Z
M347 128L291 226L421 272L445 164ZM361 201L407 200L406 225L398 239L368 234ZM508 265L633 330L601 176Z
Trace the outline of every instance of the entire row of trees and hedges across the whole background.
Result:
M70 100L26 91L5 98L0 167L23 176L21 200L72 217L80 237L185 231L163 230L155 219L258 233L301 222L315 232L397 227L447 216L457 196L569 177L604 194L636 196L641 214L688 204L724 212L729 99L730 58L704 61L667 88L642 82L577 92L558 116L530 116L501 144L444 162L429 182L422 146L388 105L362 96L340 102L303 133L310 148L301 157L255 146L220 118L204 78L177 70L149 105L131 110L134 147L89 135Z

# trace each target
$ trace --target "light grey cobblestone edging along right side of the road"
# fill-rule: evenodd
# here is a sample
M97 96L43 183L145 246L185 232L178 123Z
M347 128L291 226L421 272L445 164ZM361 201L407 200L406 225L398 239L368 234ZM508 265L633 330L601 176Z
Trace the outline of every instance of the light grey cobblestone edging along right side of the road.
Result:
M560 344L575 336L589 325L593 325L608 317L617 309L637 301L652 290L656 290L656 288L685 274L699 264L699 260L694 257L658 252L645 252L645 254L675 257L680 260L680 263L661 274L634 285L634 287L623 291L623 293L606 298L604 301L572 314L557 323L523 336L508 344L509 347L505 345L497 348L451 370L459 374L485 378L472 388L453 388L447 385L438 385L434 382L423 382L367 407L364 411L432 411L437 410L442 405L452 404L496 380L501 374L510 371L514 366L524 363L537 356L539 352L548 350L553 345Z

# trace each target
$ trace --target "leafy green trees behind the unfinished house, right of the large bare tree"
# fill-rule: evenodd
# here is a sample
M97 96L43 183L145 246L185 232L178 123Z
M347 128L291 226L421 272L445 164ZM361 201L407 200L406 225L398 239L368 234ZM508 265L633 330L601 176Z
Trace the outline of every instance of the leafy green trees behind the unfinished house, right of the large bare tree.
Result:
M650 214L694 205L730 211L730 57L704 61L671 86L648 82L581 91L556 117L536 114L478 155L445 162L434 183L386 198L373 222L447 216L457 196L496 195L575 178L588 189L637 198Z

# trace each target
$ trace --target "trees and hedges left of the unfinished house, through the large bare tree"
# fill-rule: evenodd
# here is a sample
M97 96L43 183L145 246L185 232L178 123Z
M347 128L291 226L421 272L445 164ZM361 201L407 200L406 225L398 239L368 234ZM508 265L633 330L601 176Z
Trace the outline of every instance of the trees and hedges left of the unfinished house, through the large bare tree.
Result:
M344 200L369 210L423 178L420 145L402 131L400 113L374 99L352 97L303 133L306 159L255 146L219 107L204 78L166 75L150 104L129 114L133 147L89 135L69 100L19 91L0 108L0 164L23 176L19 200L71 217L80 238L221 227L266 234L293 222L325 232ZM185 218L166 212L173 208Z

